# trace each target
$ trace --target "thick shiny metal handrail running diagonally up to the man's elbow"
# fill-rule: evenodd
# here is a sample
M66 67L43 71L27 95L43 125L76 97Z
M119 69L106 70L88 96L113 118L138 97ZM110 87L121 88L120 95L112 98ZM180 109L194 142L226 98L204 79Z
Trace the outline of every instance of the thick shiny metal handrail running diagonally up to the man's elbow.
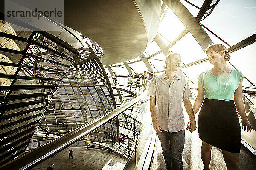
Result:
M132 99L131 101L125 103L119 108L116 108L113 111L101 116L97 119L94 119L92 122L83 125L47 144L38 147L29 153L26 153L12 161L9 161L6 164L0 166L1 170L28 170L36 165L40 164L44 160L48 159L49 157L55 155L56 153L64 150L66 147L70 146L71 144L79 141L83 137L89 135L94 130L98 129L102 125L105 125L107 122L111 121L112 119L116 118L122 112L126 111L131 106L135 105L141 99L146 96L147 91L145 91L140 96Z

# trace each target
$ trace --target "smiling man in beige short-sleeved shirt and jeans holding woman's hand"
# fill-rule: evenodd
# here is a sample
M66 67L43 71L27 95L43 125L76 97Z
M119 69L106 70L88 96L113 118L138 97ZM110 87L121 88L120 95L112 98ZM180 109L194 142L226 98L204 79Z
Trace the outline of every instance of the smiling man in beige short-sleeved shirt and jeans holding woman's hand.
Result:
M150 112L154 130L161 142L167 170L183 170L181 153L184 149L184 115L182 99L191 122L189 131L196 129L195 117L189 97L192 96L186 79L175 72L180 67L181 57L174 53L166 57L166 71L151 80L148 88Z

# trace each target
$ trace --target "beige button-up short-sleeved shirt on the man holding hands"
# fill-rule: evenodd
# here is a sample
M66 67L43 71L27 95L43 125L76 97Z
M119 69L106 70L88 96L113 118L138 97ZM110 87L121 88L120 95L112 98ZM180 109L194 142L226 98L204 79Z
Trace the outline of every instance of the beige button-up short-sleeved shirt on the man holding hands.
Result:
M162 130L168 132L183 130L185 123L182 99L192 97L185 78L175 74L170 82L164 72L151 80L147 95L156 98L156 116Z

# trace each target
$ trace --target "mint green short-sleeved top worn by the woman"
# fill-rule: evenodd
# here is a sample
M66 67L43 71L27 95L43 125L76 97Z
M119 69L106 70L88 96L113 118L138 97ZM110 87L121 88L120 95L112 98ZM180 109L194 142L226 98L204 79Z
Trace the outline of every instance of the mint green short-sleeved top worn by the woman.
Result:
M204 71L198 76L204 88L204 96L208 99L234 100L235 90L244 75L239 70L232 69L227 76L214 76L210 71Z

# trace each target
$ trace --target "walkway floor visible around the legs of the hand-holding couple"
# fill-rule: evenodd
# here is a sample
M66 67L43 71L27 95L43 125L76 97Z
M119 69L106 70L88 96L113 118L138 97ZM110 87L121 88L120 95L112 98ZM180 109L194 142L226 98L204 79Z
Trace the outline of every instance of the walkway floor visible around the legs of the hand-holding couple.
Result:
M185 132L185 148L183 150L183 167L184 170L203 170L203 162L200 156L201 139L198 137L198 131L190 133ZM162 148L157 137L154 158L150 170L166 170L165 162L162 155ZM253 156L243 145L239 155L239 164L241 170L256 170L256 157ZM211 170L226 170L226 165L222 157L221 150L212 148L212 159L210 164Z

